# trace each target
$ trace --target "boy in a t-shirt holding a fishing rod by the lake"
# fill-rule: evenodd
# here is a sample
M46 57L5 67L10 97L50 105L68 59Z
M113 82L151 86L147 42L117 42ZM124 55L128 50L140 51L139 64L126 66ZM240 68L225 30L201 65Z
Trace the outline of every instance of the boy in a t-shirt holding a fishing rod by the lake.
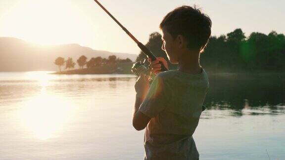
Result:
M211 35L211 20L199 9L181 6L169 12L160 23L162 49L177 70L160 72L159 57L151 62L157 76L149 86L141 74L135 84L137 92L133 126L146 127L144 160L198 160L192 138L209 88L208 77L199 64L199 55ZM167 67L168 68L168 67Z

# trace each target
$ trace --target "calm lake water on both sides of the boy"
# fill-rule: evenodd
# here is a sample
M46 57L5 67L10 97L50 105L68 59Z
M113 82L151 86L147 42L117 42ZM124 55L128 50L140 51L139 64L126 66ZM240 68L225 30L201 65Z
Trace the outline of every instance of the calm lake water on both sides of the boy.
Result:
M142 160L132 75L0 73L0 160ZM285 160L285 78L210 75L201 160Z

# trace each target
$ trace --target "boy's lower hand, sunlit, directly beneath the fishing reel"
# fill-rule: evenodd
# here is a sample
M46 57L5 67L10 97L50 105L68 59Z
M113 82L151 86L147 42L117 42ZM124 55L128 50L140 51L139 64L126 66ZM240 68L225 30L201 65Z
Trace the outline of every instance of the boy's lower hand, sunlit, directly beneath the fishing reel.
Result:
M135 84L137 96L144 99L148 88L149 88L149 76L145 74L141 74Z

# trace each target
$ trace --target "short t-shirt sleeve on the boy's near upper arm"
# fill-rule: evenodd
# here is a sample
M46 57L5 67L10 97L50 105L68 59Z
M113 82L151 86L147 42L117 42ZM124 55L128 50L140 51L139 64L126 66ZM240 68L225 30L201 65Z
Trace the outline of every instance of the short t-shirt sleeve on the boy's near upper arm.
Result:
M165 109L165 84L161 77L156 76L149 86L139 110L149 118L155 117Z

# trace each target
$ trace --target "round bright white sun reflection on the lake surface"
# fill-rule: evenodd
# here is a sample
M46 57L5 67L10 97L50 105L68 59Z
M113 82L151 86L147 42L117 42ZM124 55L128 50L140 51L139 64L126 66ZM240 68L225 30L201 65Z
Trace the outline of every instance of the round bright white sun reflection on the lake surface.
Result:
M73 111L72 105L65 97L47 94L46 85L47 83L44 83L40 94L21 105L17 116L20 124L28 132L32 132L34 138L41 140L54 137L55 133L71 120Z

